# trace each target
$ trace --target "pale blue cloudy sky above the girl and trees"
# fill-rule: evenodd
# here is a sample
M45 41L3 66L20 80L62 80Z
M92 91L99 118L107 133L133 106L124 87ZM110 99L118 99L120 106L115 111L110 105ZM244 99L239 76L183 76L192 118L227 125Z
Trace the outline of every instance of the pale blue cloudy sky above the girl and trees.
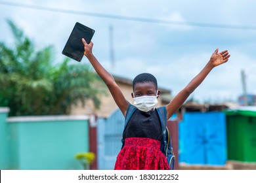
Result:
M12 20L38 49L53 45L59 62L80 22L95 29L93 53L112 75L132 80L152 73L173 96L200 73L216 48L228 50L228 62L190 95L201 103L221 103L242 95L242 70L247 93L256 94L255 7L253 0L0 1L0 41L13 44L6 22ZM85 57L82 62L89 63Z

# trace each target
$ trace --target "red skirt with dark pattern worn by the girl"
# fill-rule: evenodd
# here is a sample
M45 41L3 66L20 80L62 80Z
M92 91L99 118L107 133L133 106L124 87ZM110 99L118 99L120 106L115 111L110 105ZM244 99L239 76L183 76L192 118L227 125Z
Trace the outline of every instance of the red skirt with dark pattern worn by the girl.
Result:
M117 156L115 170L169 170L160 141L148 138L127 138Z

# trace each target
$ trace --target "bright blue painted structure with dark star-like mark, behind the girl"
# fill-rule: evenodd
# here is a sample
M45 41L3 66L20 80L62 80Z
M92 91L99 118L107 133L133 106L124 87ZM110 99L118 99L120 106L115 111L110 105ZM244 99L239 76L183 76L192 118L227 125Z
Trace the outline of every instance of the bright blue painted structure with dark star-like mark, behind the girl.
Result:
M179 123L179 161L224 165L226 153L224 112L186 112Z

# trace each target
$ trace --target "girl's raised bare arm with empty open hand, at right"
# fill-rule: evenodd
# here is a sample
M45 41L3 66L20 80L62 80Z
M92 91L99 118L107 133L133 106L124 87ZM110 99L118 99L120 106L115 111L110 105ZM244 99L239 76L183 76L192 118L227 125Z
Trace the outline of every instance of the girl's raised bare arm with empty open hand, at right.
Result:
M166 105L167 109L167 119L169 119L186 101L188 96L196 90L196 88L203 82L205 77L211 72L211 69L214 67L221 65L223 63L226 63L228 61L228 58L230 55L228 54L227 50L224 50L223 52L218 53L218 48L213 52L211 55L211 59L208 61L208 63L203 67L202 71L196 75L189 83L188 85L179 92L174 99Z

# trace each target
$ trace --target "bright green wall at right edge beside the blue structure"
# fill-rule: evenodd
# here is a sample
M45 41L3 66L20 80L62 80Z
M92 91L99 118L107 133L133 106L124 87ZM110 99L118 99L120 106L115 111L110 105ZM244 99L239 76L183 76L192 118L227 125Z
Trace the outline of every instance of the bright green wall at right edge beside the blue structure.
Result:
M226 112L228 159L256 162L256 111Z

